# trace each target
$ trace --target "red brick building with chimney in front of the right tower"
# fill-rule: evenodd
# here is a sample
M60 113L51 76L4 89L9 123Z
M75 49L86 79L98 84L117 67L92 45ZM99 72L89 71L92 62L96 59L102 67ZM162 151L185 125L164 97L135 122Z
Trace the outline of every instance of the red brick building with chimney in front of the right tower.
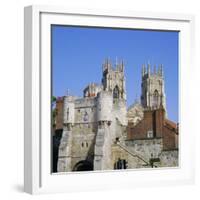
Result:
M128 140L152 138L163 139L163 150L178 148L178 126L165 118L163 108L145 110L143 119L135 126L128 123Z

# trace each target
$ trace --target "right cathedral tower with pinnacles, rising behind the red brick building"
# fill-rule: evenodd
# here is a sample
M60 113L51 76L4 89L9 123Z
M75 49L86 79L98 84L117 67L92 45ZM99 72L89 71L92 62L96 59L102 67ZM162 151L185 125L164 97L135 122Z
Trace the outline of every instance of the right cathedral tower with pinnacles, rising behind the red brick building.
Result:
M163 107L166 111L166 97L164 88L163 66L158 69L154 66L151 71L150 64L142 66L142 95L141 104L144 108L157 109Z

